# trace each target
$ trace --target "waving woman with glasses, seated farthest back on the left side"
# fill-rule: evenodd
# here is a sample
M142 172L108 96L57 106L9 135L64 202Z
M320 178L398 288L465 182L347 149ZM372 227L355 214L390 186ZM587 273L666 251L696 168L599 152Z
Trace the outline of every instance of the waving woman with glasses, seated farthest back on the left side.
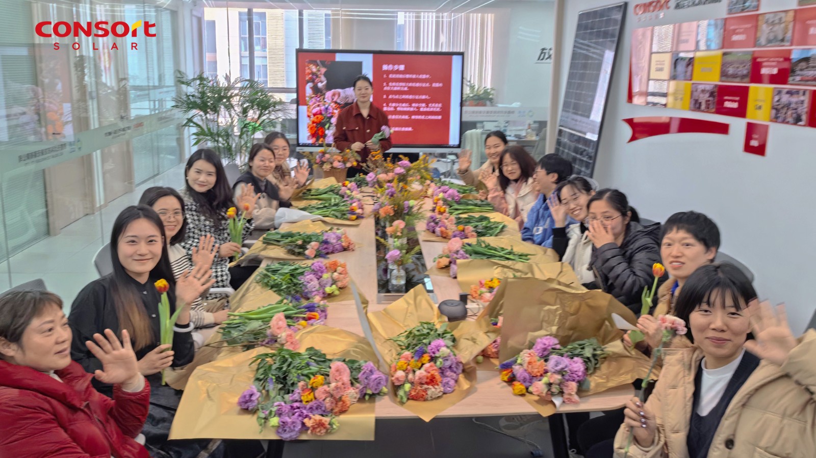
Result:
M291 152L289 139L286 138L286 134L283 134L282 132L272 132L266 136L264 143L269 148L268 151L272 152L274 164L269 163L268 154L263 154L258 158L257 164L255 164L258 166L258 168L255 170L254 166L252 165L252 153L250 152L250 172L252 175L255 175L255 177L268 179L270 182L272 182L273 185L277 187L278 192L280 192L281 198L278 199L278 201L288 202L292 193L287 189L284 189L284 187L291 187L293 190L299 187L304 187L306 180L308 180L308 166L300 164L296 165L295 177L292 177L292 170L289 168L289 164L286 163L286 160L289 159ZM267 170L270 168L271 171L267 173ZM244 175L242 175L242 178ZM241 178L238 178L238 180L242 181ZM244 181L244 183L246 183L246 181ZM259 190L258 187L255 187L255 189ZM285 207L288 205L280 206Z

